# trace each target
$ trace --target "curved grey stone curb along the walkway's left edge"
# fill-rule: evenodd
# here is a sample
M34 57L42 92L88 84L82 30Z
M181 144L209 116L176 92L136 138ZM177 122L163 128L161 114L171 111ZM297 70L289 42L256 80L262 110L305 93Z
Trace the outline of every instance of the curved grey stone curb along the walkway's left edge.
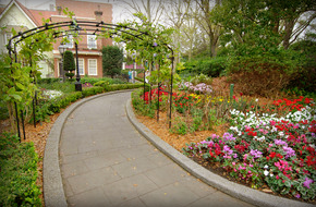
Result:
M59 167L59 143L63 125L69 115L83 104L112 94L132 92L134 89L109 92L81 99L69 106L56 120L47 137L42 160L42 190L46 207L66 207L62 178Z

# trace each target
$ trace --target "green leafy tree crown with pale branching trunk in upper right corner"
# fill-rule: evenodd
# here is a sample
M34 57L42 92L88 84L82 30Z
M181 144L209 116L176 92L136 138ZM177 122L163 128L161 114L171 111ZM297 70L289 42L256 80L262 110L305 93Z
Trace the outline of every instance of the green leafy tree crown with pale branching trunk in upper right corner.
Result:
M316 1L222 0L210 17L226 29L232 44L252 45L256 44L255 38L270 39L288 49L316 19Z

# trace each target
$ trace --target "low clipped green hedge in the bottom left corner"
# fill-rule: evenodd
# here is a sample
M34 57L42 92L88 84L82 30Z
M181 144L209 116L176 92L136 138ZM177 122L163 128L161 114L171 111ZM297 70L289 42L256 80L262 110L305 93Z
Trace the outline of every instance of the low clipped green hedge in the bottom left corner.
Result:
M20 143L17 136L7 133L0 135L1 206L41 206L37 161L33 143Z

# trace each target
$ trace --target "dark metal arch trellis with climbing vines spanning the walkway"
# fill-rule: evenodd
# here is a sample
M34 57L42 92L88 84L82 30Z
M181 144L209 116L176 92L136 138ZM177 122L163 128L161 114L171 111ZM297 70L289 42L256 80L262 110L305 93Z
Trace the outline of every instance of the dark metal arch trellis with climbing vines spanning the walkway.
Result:
M62 29L63 28L63 29ZM9 56L11 59L11 65L13 62L17 62L17 46L19 44L23 42L25 39L36 35L40 34L47 31L53 31L53 38L61 38L65 37L70 34L74 34L76 36L81 35L100 35L100 34L108 34L109 38L113 38L114 36L122 36L122 35L127 35L134 38L138 38L141 40L144 39L145 36L149 36L148 33L138 31L136 28L132 28L125 25L117 25L117 24L110 24L110 23L105 23L104 21L100 22L92 22L92 21L76 21L73 19L72 21L65 21L65 22L57 22L57 23L46 23L42 26L38 26L25 32L19 32L17 35L13 36L10 40L9 44L7 45L7 49L9 51ZM150 36L151 38L156 39L155 37ZM132 39L131 39L132 40ZM37 41L37 39L36 39ZM125 44L127 44L129 40L123 40ZM32 42L35 44L35 42ZM169 127L171 127L171 107L172 107L172 89L173 89L173 73L174 73L174 51L173 49L167 45L162 44L165 48L167 48L171 52L171 80L170 80L170 92L167 92L169 94L169 101L170 101L170 113L169 113ZM31 48L31 45L28 46ZM156 46L151 46L156 47ZM80 73L78 73L78 56L77 56L77 41L75 40L75 58L76 58L76 83L77 84L75 87L77 90L81 90L81 83L80 83ZM31 65L32 66L32 61ZM144 76L145 76L145 71L144 71ZM80 86L78 86L80 85ZM160 92L161 83L158 80L158 92ZM151 88L150 88L151 89ZM159 94L159 93L158 93ZM149 93L151 96L151 93ZM144 82L144 97L145 97L145 82ZM151 98L151 97L150 97ZM145 99L144 99L145 100ZM36 94L34 95L34 100L33 100L33 113L34 113L34 126L36 126L36 121L35 121L35 102L36 100ZM19 137L21 138L21 133L20 133L20 124L19 124L19 110L16 106L16 101L14 102L14 108L15 108L15 119L16 119L16 125L17 125L17 133ZM158 101L158 111L157 111L157 121L159 121L159 101ZM25 130L24 130L24 118L23 118L23 112L21 111L21 121L22 121L22 126L23 126L23 134L25 138Z

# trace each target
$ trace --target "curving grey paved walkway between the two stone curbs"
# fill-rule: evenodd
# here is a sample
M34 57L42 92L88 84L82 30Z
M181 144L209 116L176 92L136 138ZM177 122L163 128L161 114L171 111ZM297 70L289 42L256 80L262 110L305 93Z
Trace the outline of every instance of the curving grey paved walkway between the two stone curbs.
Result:
M130 123L131 93L93 99L68 118L60 167L69 206L251 206L198 181Z

